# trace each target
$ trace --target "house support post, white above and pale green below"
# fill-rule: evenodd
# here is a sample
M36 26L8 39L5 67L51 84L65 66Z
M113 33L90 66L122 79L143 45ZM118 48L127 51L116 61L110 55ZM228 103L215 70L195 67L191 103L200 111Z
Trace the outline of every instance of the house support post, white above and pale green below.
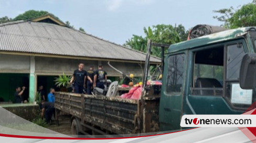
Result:
M30 56L30 74L29 74L29 102L35 101L35 56Z

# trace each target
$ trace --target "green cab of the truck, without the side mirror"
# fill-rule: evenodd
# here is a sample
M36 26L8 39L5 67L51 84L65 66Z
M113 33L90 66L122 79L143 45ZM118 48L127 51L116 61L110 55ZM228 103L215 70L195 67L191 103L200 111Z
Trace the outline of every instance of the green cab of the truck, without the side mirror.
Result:
M255 53L255 27L205 35L170 45L159 105L160 130L176 130L185 114L242 114L255 88L239 85L241 61Z

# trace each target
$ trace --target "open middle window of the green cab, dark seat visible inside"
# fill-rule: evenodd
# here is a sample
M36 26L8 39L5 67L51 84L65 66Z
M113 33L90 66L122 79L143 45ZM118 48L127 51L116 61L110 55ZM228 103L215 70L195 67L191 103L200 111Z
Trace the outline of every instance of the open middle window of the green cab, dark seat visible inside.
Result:
M224 47L194 53L192 95L222 96Z

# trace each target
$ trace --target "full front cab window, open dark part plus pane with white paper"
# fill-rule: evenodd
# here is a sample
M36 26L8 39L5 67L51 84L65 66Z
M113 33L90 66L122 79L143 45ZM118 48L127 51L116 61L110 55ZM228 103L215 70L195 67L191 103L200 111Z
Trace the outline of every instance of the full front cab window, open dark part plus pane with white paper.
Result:
M244 90L239 85L239 73L244 56L242 42L212 47L194 52L191 95L223 96L234 109L247 109L255 101L255 89Z

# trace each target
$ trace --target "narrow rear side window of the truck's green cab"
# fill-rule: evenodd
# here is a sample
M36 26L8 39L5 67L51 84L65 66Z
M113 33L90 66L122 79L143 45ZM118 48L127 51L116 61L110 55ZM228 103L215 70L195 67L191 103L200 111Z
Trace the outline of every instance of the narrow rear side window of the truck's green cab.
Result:
M182 91L183 87L185 54L169 56L167 64L166 92L178 94Z

